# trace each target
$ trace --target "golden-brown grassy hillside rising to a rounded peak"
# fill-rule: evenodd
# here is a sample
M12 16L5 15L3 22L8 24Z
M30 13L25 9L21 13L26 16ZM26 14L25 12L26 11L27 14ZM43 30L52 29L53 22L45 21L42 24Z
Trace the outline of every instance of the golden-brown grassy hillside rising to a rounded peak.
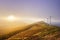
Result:
M37 22L6 40L60 40L60 27Z

